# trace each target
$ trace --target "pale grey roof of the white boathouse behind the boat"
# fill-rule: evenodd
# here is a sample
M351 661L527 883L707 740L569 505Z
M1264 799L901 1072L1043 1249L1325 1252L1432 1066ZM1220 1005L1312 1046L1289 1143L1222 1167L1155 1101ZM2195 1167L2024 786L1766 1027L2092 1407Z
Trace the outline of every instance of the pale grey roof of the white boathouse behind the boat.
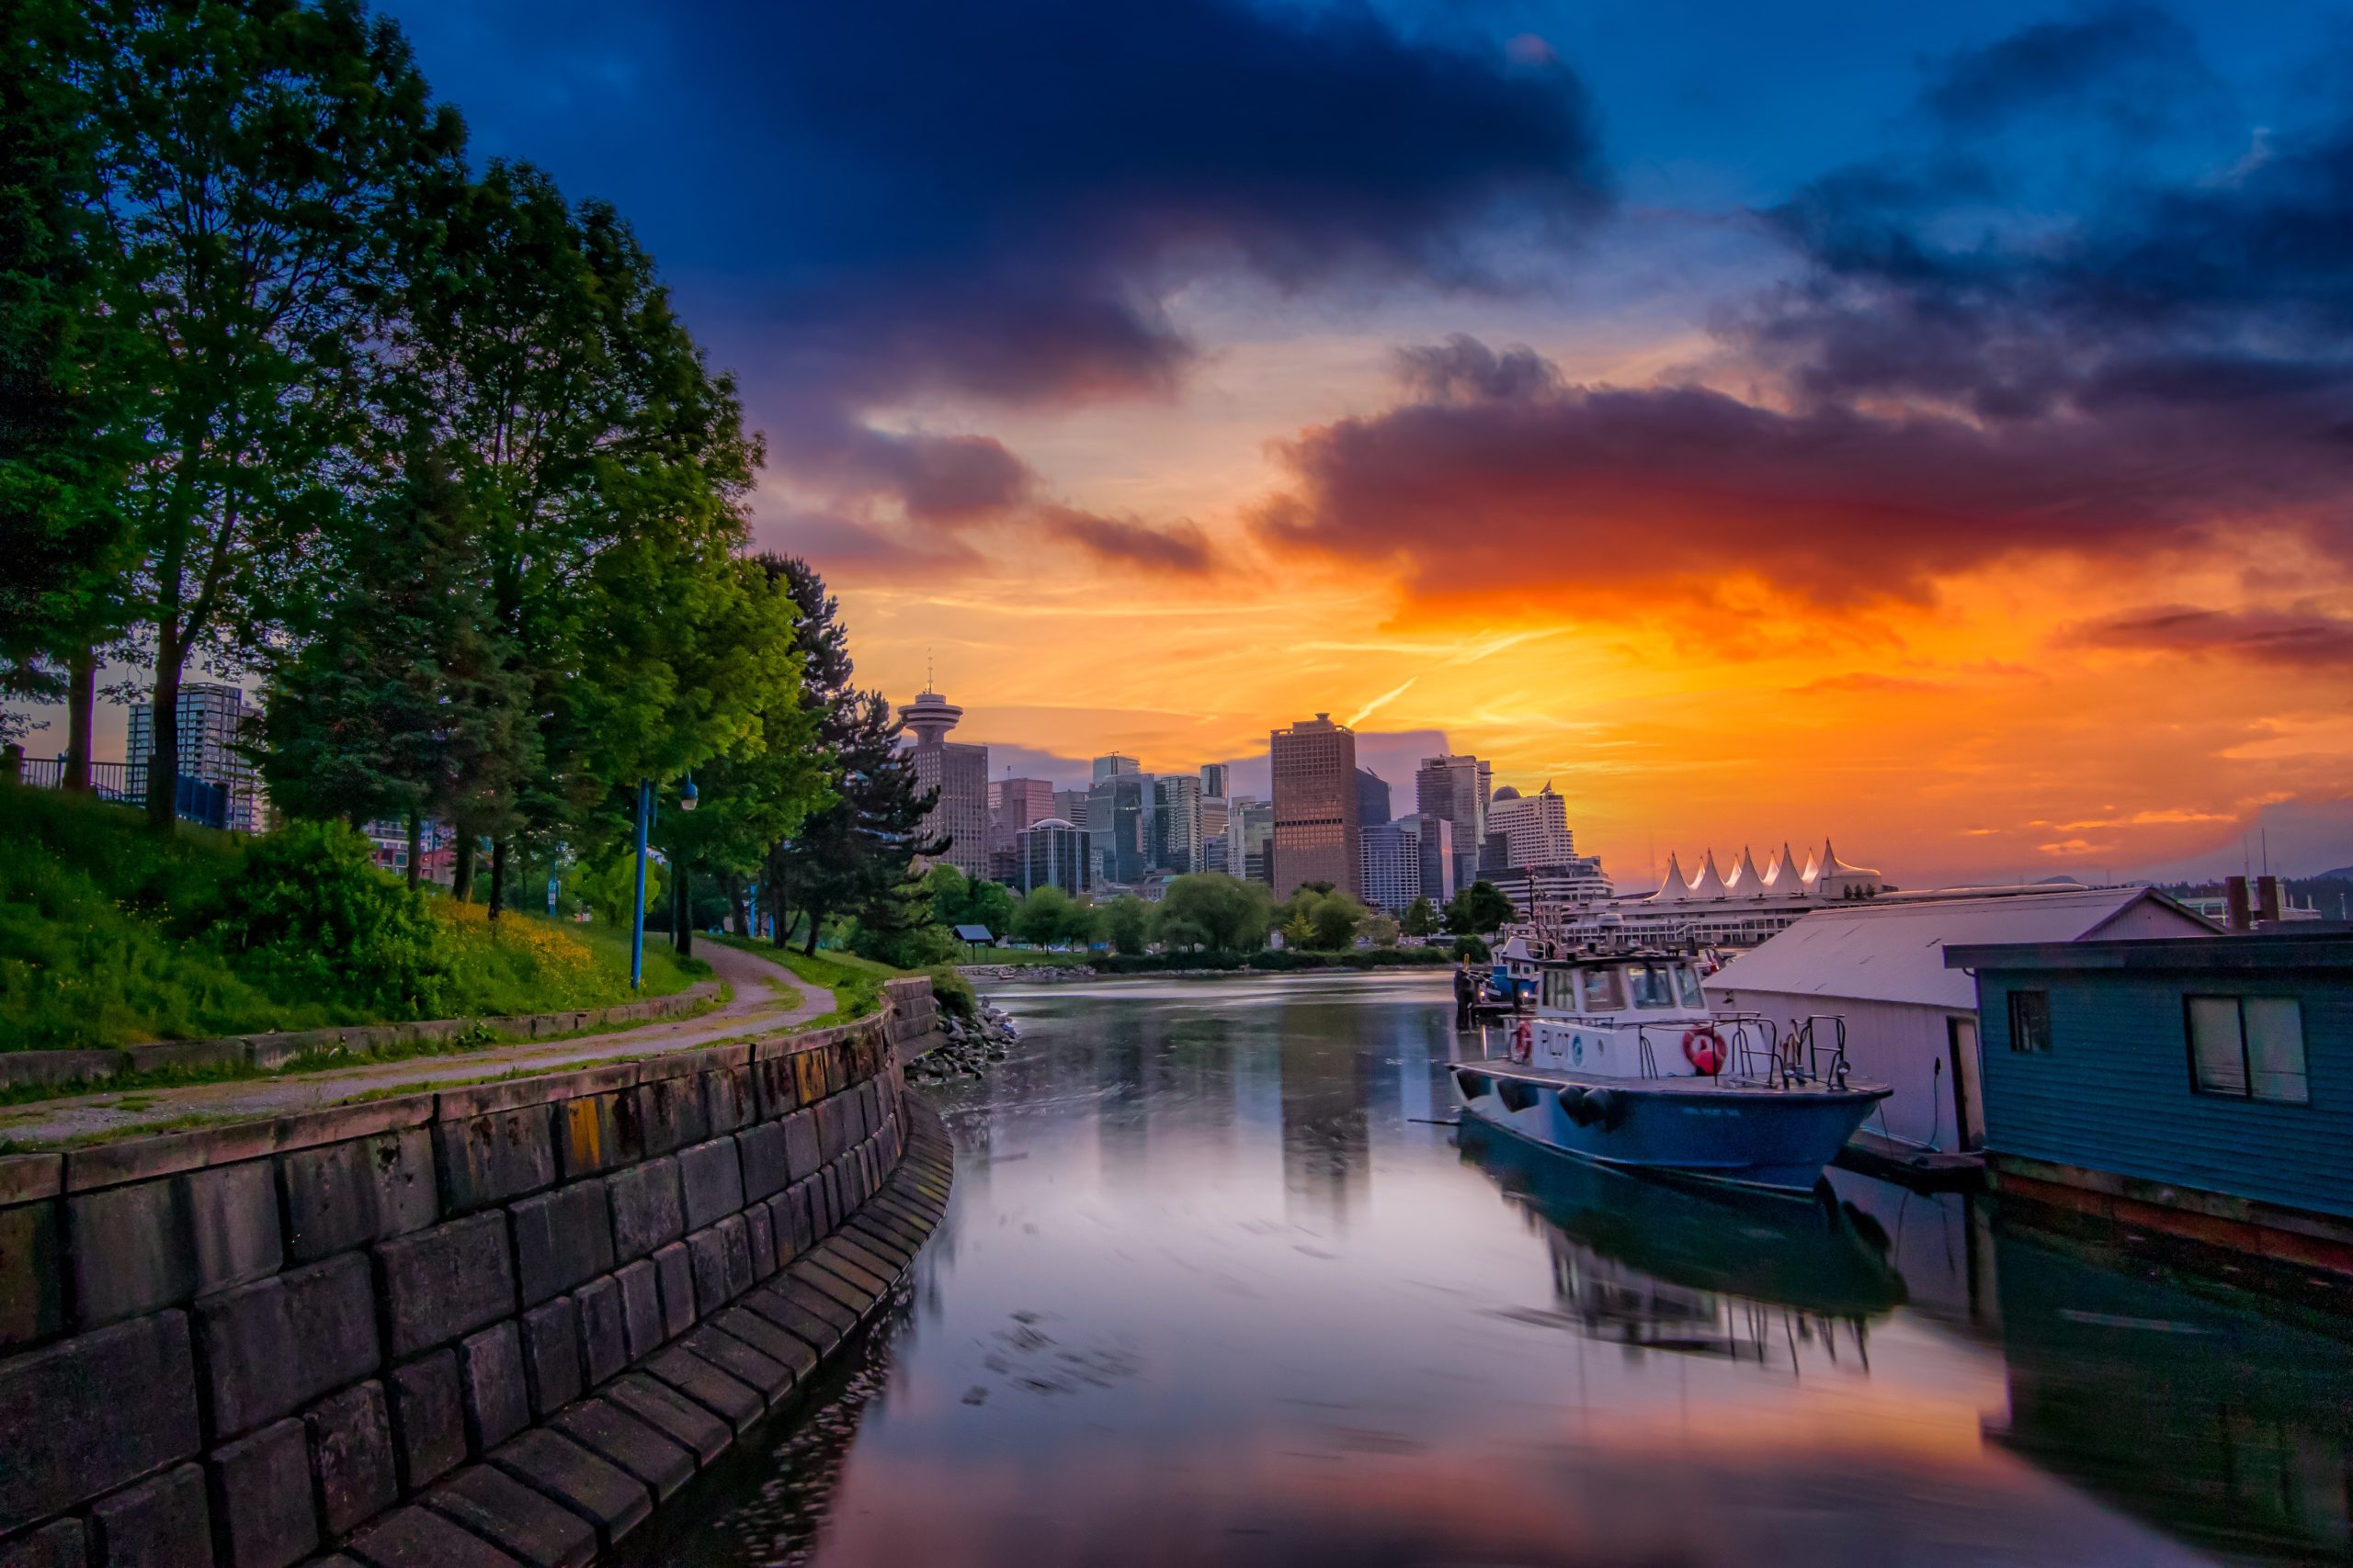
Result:
M2212 924L2155 889L1993 893L1920 903L1859 900L1807 914L1708 976L1711 997L1842 997L1977 1009L1977 983L1944 966L1948 945L2078 943L2089 936L2209 936Z

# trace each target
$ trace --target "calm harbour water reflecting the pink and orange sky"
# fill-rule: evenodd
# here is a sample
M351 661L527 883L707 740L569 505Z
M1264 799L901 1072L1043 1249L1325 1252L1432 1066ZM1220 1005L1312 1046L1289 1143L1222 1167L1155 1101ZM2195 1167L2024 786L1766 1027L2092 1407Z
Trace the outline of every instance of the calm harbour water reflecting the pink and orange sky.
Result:
M2348 1556L2339 1324L1845 1173L1457 1147L1442 980L998 999L901 1321L633 1561Z

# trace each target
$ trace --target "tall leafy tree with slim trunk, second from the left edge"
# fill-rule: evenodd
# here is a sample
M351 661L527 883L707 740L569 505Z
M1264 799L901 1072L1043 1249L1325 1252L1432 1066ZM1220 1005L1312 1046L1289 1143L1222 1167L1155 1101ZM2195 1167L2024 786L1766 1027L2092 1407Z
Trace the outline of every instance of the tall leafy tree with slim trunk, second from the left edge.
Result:
M172 825L191 658L240 663L353 480L400 235L461 155L409 47L353 0L89 0L106 308L158 388L127 621L155 661L148 816Z

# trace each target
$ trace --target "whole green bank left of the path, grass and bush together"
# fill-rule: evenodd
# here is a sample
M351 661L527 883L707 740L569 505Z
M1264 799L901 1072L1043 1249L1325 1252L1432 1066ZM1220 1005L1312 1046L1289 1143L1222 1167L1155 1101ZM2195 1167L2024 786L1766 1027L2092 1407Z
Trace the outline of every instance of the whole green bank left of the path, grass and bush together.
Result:
M341 825L146 830L139 811L0 785L0 1051L501 1018L668 997L664 943L405 886Z

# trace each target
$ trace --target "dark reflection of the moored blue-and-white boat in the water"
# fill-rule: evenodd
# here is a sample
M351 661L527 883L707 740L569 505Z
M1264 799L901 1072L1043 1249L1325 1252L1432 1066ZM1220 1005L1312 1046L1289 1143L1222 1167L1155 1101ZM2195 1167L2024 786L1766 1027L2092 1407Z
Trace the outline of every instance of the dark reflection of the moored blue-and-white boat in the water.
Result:
M1459 1147L1544 1222L1553 1321L1586 1338L1748 1361L1795 1361L1802 1345L1835 1359L1845 1340L1868 1366L1868 1321L1904 1305L1885 1232L1828 1187L1814 1201L1680 1187L1471 1117Z

